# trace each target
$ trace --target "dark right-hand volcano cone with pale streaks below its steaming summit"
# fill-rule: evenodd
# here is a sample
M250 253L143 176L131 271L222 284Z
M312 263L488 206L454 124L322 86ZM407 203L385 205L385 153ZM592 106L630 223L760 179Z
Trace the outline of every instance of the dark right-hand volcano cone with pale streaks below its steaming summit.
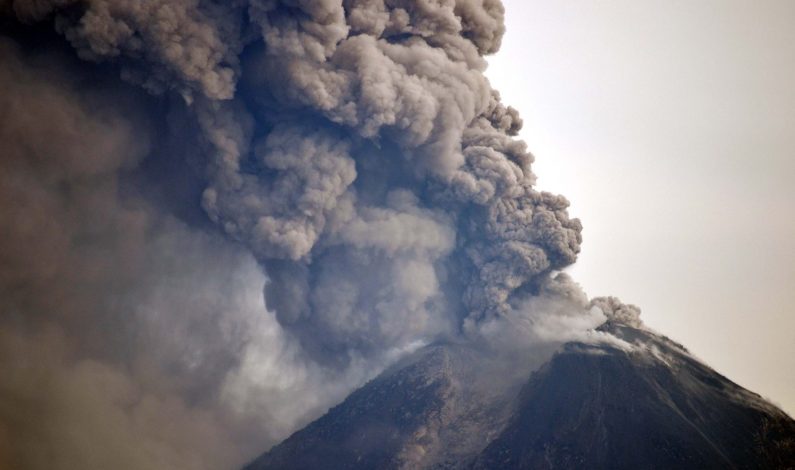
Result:
M610 329L637 349L568 345L533 374L476 468L795 465L786 414L665 338Z

